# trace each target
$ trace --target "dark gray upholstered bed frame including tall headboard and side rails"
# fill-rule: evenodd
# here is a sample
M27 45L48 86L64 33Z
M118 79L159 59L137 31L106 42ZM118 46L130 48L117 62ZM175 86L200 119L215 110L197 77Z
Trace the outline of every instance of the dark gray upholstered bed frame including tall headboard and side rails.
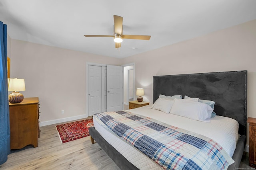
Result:
M239 123L240 139L232 156L235 161L228 170L239 168L246 144L247 121L247 71L211 72L153 76L153 102L159 94L166 96L182 95L212 100L217 115L236 119ZM114 160L122 170L138 170L122 154L94 129L89 129L92 143L94 140Z

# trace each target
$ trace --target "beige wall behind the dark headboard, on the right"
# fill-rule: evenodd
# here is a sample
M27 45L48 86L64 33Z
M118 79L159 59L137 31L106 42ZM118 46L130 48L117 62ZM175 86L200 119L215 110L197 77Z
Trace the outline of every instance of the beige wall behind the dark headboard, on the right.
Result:
M151 103L152 76L248 70L248 117L256 117L256 20L123 59L131 62Z

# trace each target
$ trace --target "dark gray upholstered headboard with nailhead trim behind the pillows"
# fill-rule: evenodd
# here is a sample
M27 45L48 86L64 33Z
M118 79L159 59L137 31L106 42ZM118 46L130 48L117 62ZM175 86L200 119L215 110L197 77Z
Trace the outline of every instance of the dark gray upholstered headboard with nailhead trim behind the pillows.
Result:
M153 76L153 102L159 94L182 95L212 100L217 115L239 123L239 134L246 135L247 71L210 72Z

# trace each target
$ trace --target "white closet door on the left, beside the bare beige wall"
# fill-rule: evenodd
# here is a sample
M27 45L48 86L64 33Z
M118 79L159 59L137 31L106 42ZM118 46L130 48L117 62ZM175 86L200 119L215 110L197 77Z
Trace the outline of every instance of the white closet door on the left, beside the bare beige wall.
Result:
M102 67L88 65L88 116L102 112Z

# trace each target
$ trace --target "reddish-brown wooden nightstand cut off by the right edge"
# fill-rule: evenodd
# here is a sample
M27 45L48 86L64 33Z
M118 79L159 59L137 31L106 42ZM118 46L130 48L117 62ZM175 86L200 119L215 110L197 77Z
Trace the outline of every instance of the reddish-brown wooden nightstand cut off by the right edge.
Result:
M256 118L248 117L249 123L249 166L256 167Z

